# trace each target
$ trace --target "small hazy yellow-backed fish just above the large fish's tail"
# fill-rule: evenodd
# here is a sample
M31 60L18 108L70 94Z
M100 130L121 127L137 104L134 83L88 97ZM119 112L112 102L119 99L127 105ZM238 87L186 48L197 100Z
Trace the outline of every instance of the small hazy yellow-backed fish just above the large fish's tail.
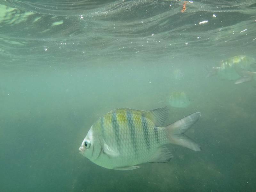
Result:
M190 100L185 92L172 92L168 102L172 107L177 108L186 108L190 105Z

